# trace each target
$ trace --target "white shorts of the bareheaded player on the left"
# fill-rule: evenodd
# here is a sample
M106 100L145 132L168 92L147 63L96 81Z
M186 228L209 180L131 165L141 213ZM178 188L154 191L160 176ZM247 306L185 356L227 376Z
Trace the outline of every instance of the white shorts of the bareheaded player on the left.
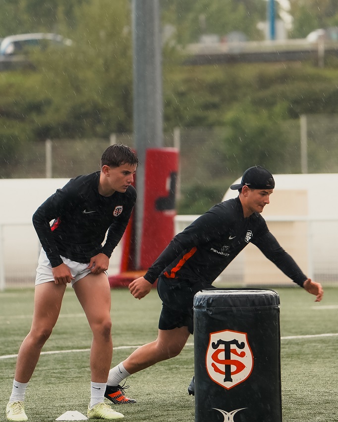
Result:
M71 261L68 258L61 256L61 259L64 264L70 269L71 275L74 277L74 280L71 281L71 285L73 286L76 281L83 279L90 273L90 268L87 268L89 262L87 264L83 264L81 262ZM105 271L106 276L108 277L107 271ZM36 279L35 285L47 283L48 281L55 281L52 273L52 266L47 258L46 252L43 248L41 248L39 261L38 261L38 268L36 269Z

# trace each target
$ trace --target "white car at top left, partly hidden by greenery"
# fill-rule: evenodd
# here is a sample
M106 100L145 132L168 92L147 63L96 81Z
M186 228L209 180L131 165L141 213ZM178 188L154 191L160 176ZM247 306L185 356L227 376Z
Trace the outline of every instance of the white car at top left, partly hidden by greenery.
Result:
M35 34L9 35L0 42L0 56L24 54L30 48L46 49L49 45L69 46L72 41L61 35L39 32Z

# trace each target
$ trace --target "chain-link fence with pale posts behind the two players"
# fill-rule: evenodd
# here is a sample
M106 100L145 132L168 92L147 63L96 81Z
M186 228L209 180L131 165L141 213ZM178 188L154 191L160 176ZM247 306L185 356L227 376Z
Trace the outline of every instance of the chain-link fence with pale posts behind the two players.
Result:
M281 127L287 142L280 145L276 168L269 168L273 173L338 172L338 115L302 116L282 122ZM180 150L182 188L193 183L208 186L215 180L232 181L240 175L234 173L231 159L226 157L227 132L226 127L194 127L175 128L164 135L164 146ZM135 147L132 134L26 142L19 152L2 160L0 178L71 178L93 172L100 169L104 149L116 142Z

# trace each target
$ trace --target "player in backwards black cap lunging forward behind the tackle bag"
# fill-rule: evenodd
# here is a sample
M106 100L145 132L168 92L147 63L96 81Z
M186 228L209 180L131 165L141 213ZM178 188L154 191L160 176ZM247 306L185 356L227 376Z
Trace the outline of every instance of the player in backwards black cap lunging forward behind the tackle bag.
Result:
M316 301L322 299L321 284L302 273L261 216L275 188L272 174L260 166L250 167L241 183L230 188L239 191L236 199L222 202L197 218L171 240L144 277L130 283L130 292L141 299L158 279L163 307L157 340L138 348L110 370L105 396L113 403L114 387L124 378L181 352L193 333L195 293L210 287L249 242L286 276L314 294Z

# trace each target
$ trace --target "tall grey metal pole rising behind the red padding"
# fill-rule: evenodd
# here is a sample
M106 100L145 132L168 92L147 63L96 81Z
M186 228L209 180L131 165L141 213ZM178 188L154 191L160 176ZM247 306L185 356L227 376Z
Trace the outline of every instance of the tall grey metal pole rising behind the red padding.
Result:
M141 165L136 177L136 267L144 213L147 148L163 146L163 100L159 0L132 0L133 118L135 149Z

